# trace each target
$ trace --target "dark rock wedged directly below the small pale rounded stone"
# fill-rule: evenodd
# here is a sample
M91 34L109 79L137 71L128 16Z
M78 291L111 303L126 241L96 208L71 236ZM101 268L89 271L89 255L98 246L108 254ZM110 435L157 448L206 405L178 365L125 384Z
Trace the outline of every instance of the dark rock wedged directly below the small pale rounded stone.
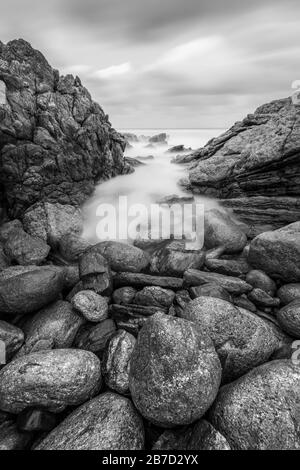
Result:
M110 318L96 325L93 323L83 325L77 333L73 347L101 354L116 331L115 322Z

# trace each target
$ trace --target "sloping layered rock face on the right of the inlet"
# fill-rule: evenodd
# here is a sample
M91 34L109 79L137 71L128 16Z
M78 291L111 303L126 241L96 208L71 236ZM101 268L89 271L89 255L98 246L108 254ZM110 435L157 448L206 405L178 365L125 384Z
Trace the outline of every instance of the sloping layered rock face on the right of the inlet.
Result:
M193 154L189 187L229 206L232 200L254 226L299 220L299 128L300 109L290 98L261 106Z

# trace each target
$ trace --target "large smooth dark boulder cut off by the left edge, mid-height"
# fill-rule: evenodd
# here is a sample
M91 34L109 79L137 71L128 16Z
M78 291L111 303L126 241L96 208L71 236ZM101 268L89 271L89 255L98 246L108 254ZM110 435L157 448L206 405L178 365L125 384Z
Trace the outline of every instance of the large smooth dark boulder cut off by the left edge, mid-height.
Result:
M0 312L35 312L53 302L64 287L64 271L55 266L13 266L0 272Z

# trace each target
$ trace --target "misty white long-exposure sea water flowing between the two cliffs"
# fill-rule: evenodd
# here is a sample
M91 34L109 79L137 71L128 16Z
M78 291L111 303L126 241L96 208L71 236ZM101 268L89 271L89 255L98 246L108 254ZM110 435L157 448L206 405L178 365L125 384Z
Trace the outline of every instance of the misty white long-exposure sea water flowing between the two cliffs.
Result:
M125 156L132 158L152 156L153 159L143 160L145 164L136 167L135 172L130 175L117 176L96 187L93 196L82 208L83 236L91 243L97 243L103 239L131 242L136 238L137 227L140 230L140 236L145 238L151 228L149 214L153 210L153 204L166 196L187 195L178 185L178 181L187 175L187 170L183 165L171 163L176 154L166 153L166 151L170 147L181 144L186 148L196 150L223 132L222 129L118 130L120 133L132 133L145 137L165 132L168 135L168 145L147 148L146 139L132 143L133 148L127 149ZM201 196L197 196L196 202L198 205L202 204L205 209L217 205L217 201ZM145 211L137 218L136 215L141 207L144 207ZM154 207L154 210L162 212L161 208L155 209ZM176 220L174 223L176 225ZM131 232L128 231L128 225L131 226Z

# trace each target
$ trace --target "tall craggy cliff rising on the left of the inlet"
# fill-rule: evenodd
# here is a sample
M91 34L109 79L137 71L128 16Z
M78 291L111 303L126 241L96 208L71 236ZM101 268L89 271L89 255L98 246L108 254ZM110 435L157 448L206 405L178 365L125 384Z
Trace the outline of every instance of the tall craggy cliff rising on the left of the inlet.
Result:
M40 201L78 205L122 173L125 141L78 77L23 40L0 43L0 59L0 200L11 216Z

